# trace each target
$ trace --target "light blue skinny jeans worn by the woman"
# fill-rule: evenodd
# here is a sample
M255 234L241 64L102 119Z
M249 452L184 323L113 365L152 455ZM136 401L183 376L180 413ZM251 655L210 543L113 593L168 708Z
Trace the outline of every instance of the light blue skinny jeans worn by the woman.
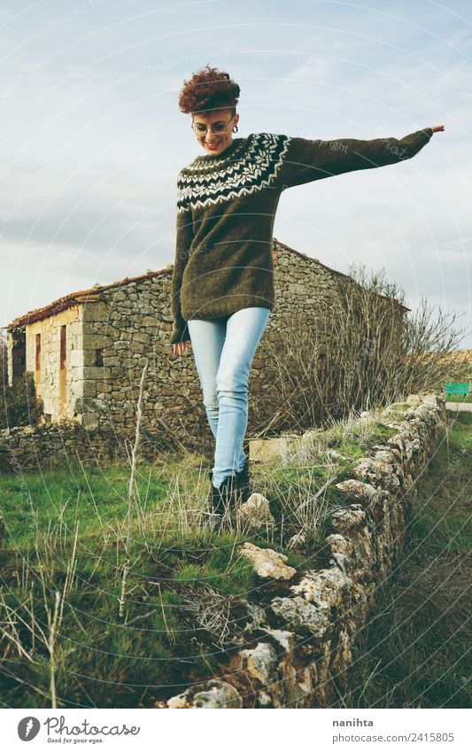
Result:
M244 466L249 373L269 314L269 308L254 306L218 319L187 322L203 403L216 441L216 488Z

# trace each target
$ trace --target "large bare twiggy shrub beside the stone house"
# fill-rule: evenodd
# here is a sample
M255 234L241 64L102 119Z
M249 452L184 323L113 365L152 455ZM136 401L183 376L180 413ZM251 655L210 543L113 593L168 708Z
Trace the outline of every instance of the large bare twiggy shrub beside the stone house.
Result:
M463 376L464 364L445 357L465 336L457 312L422 298L408 313L398 284L363 266L339 277L331 299L326 312L294 314L267 337L275 376L251 403L259 436L324 426Z

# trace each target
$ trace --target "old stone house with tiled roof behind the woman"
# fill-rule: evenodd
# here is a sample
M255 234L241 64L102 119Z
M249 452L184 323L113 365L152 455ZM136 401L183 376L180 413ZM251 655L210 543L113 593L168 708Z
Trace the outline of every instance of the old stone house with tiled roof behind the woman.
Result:
M350 278L274 239L275 308L251 369L250 393L259 417L264 391L277 368L267 343L295 314L327 315ZM143 415L149 430L185 438L208 432L194 360L174 356L172 265L58 298L7 326L9 381L34 373L43 399L43 421L72 420L89 430L128 430L135 420L137 390L149 361ZM392 299L386 298L391 304ZM404 306L393 301L399 315ZM316 324L314 324L316 325ZM262 399L262 401L261 401ZM273 397L267 414L274 410ZM272 400L272 401L271 401Z

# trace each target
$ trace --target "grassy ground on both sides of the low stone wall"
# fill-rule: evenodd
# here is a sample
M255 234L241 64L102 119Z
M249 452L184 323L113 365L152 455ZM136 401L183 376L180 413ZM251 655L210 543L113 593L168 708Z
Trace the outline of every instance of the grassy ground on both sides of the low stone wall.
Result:
M363 636L346 707L413 700L457 707L466 698L460 663L470 578L471 417L453 415L430 463L409 528L407 563L398 580L386 584L380 614ZM240 649L233 637L251 599L264 599L266 591L272 598L287 586L260 585L239 544L249 537L286 554L298 570L312 567L329 504L340 499L329 489L309 514L300 501L329 480L350 477L352 463L393 432L375 419L338 424L254 469L275 526L251 536L237 528L217 534L205 525L202 457L138 463L122 616L129 468L71 465L3 477L0 702L149 708L212 677L221 660ZM349 459L333 460L328 450L334 446ZM306 550L295 554L288 541L300 530ZM387 629L391 620L395 628ZM387 644L380 647L385 633Z

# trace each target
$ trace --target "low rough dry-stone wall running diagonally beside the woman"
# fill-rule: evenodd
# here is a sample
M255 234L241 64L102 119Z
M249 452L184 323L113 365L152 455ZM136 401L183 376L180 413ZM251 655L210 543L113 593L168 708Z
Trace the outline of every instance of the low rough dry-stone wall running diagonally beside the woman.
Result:
M445 422L442 395L411 395L407 402L406 412L391 406L380 416L397 433L360 459L351 479L337 484L345 504L331 510L326 565L300 575L282 563L272 567L272 582L288 580L285 592L268 603L252 599L251 618L236 635L228 663L212 680L157 707L325 708L338 700L356 634L375 609L376 587L389 576L415 482ZM274 554L269 552L273 559L280 556ZM267 549L260 549L260 556L267 556ZM267 577L271 581L271 570L258 571L261 585ZM238 650L238 644L249 647Z

